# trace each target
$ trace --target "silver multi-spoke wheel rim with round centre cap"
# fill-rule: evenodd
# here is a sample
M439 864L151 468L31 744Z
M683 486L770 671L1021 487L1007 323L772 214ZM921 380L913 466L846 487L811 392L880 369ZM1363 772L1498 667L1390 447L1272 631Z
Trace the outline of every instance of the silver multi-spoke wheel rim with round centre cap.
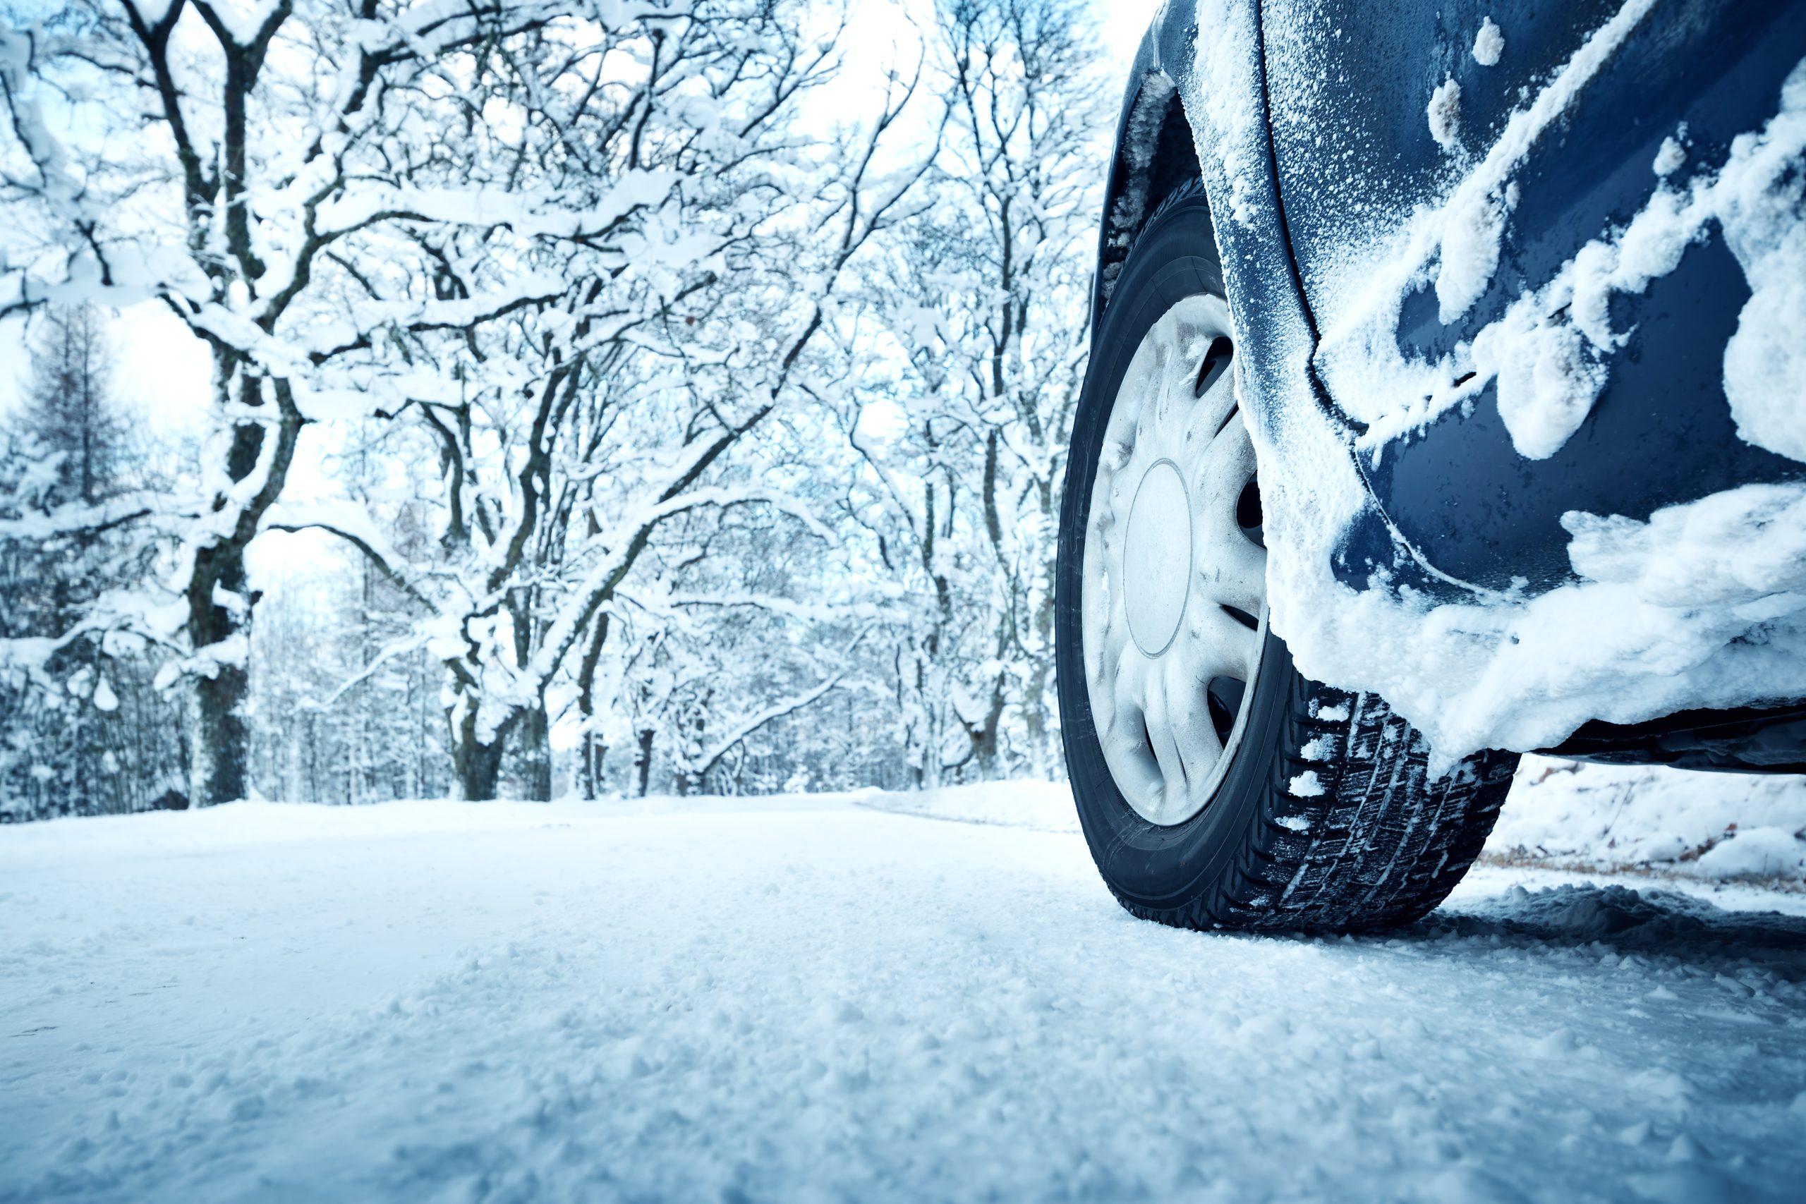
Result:
M1123 374L1091 486L1085 691L1103 760L1143 820L1190 820L1248 724L1266 643L1253 444L1228 305L1194 296Z

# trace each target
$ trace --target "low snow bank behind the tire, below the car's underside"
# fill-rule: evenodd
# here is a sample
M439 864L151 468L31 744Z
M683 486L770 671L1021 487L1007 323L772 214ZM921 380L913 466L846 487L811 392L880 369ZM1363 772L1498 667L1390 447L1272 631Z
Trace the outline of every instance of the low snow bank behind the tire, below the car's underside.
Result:
M1486 856L1806 886L1806 778L1526 756Z

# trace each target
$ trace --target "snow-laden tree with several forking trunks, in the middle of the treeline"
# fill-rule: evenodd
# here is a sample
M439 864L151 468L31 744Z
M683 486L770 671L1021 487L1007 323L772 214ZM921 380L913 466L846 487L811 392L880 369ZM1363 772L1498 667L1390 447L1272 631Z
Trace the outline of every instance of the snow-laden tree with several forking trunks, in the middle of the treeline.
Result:
M914 90L901 76L836 135L802 128L802 99L836 61L831 36L804 32L807 13L715 0L527 34L470 161L513 195L558 197L585 229L432 238L421 287L437 321L392 334L365 381L397 390L396 412L437 453L433 556L396 554L361 514L271 520L343 534L423 610L464 798L495 794L511 746L524 792L551 792L554 693L578 673L594 706L583 666L665 523L764 507L827 536L731 453L807 401L796 374L847 267L907 217L928 157L881 168ZM524 282L544 296L506 314L468 301Z

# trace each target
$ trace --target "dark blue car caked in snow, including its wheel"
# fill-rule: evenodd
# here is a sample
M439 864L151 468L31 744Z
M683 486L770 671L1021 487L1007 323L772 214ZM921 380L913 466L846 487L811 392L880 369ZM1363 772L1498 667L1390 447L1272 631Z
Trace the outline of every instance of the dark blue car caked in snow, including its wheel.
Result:
M1806 771L1806 4L1170 0L1060 516L1132 913L1385 930L1521 753Z

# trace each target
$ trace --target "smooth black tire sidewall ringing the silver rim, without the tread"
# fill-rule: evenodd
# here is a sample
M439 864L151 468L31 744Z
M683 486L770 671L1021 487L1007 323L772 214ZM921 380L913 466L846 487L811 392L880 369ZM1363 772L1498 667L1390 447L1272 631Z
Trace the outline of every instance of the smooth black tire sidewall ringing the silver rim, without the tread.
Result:
M1250 847L1277 774L1280 735L1297 697L1297 671L1271 632L1261 652L1241 744L1215 796L1183 823L1149 823L1129 805L1098 742L1084 662L1084 561L1103 431L1116 392L1149 329L1176 303L1223 296L1210 209L1201 191L1161 208L1136 238L1098 323L1073 421L1055 569L1055 661L1067 774L1078 820L1103 879L1125 901L1167 910L1196 901L1228 877ZM1203 688L1203 682L1199 682Z

